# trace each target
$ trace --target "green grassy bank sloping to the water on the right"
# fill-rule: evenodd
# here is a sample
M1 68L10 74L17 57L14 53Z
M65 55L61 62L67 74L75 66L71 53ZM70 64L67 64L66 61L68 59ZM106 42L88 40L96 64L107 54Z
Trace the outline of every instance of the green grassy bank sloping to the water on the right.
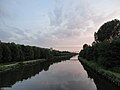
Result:
M92 71L94 71L96 74L99 74L106 80L120 87L120 73L116 73L110 70L103 69L97 63L93 61L87 61L86 59L83 59L81 57L78 57L78 59L82 64L92 69Z

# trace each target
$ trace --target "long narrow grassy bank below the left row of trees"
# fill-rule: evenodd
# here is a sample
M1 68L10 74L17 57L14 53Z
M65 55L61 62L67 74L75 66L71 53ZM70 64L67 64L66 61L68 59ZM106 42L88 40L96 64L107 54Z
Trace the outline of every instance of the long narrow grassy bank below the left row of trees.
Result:
M66 55L66 56L56 56L53 59L36 59L36 60L28 60L28 61L21 61L21 62L14 62L14 63L5 63L0 64L0 72L10 71L18 69L20 66L27 66L27 65L35 65L43 62L50 62L50 61L60 61L63 59L69 59L72 55Z

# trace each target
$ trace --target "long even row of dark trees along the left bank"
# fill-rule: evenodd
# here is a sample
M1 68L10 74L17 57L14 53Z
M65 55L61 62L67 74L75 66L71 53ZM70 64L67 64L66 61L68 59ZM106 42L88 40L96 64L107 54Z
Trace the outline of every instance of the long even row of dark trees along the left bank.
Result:
M36 46L5 43L0 41L0 63L19 62L33 59L51 59L55 56L73 55L68 51L58 51Z

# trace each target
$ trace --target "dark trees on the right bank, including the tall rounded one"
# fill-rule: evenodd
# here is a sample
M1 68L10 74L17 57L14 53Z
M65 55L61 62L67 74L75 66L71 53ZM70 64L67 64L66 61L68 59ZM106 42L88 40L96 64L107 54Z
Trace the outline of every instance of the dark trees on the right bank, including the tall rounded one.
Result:
M120 71L120 21L114 19L103 24L94 34L92 45L83 45L79 57L94 61L102 67Z

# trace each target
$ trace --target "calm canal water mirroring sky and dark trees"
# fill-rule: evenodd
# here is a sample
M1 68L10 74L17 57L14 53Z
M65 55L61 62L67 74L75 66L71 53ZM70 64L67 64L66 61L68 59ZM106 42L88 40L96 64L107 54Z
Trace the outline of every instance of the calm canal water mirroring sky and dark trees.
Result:
M86 70L77 57L21 67L0 74L0 90L119 90Z

